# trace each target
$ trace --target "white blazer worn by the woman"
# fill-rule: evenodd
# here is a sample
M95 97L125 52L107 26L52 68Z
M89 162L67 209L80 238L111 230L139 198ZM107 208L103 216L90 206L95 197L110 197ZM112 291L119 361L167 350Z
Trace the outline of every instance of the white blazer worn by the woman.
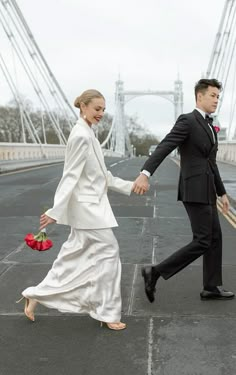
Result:
M79 229L118 226L107 190L130 195L133 182L107 171L102 149L93 130L80 118L68 138L62 178L46 215L58 224Z

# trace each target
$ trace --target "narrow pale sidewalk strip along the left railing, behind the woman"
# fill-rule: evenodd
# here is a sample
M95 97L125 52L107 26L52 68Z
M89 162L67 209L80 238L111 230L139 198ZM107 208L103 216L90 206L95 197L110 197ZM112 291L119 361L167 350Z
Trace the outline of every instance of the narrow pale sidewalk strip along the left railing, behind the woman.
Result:
M33 167L40 167L43 165L51 165L63 163L64 159L28 159L28 160L1 160L0 174L15 172L19 170L29 169Z

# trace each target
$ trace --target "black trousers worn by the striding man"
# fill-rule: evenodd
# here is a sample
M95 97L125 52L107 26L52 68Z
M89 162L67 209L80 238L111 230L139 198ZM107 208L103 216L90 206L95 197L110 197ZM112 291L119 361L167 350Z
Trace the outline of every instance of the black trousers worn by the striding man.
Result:
M203 285L222 285L222 233L216 205L186 203L193 240L154 266L164 279L169 279L203 255Z

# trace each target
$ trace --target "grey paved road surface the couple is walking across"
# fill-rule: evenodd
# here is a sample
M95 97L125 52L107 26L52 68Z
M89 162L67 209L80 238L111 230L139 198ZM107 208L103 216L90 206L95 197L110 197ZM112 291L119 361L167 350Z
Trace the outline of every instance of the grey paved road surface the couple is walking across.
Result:
M133 180L144 158L106 160L114 175ZM38 166L0 176L0 375L234 375L236 299L201 301L198 259L168 281L160 280L156 301L144 294L140 269L191 240L185 210L176 201L179 167L167 159L151 178L147 195L111 192L119 227L114 229L122 261L123 321L114 332L85 315L61 314L43 306L36 322L26 320L21 291L42 280L67 238L69 228L48 230L47 252L27 248L24 235L38 230L38 217L53 201L63 164ZM231 187L236 167L219 165ZM233 207L232 207L233 209ZM220 214L223 279L236 292L236 232Z

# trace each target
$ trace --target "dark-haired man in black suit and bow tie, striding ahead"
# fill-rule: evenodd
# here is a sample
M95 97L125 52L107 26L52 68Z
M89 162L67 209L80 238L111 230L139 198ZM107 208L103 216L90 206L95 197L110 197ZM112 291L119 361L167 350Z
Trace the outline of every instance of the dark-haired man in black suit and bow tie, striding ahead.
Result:
M178 200L182 201L190 219L193 240L163 262L143 267L145 292L154 301L155 285L160 276L165 280L203 255L203 290L201 299L231 299L232 292L222 288L222 233L216 207L221 197L223 212L229 201L216 164L217 133L209 117L217 108L221 83L201 79L195 85L196 109L182 114L169 134L143 165L133 191L143 194L148 178L176 147L180 152Z

